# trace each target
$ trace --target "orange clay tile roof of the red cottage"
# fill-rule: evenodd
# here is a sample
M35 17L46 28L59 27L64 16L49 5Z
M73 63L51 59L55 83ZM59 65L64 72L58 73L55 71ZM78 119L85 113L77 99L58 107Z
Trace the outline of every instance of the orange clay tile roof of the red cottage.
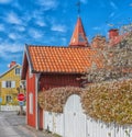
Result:
M88 47L26 46L33 72L82 73L96 54ZM99 59L95 60L101 66Z

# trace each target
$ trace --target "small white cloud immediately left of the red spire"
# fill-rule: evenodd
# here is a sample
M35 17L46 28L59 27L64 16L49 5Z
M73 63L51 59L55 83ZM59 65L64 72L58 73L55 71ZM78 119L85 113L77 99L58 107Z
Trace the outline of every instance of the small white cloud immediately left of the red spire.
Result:
M61 24L53 24L53 26L51 27L52 31L56 31L56 32L66 32L67 28L65 25L61 25Z

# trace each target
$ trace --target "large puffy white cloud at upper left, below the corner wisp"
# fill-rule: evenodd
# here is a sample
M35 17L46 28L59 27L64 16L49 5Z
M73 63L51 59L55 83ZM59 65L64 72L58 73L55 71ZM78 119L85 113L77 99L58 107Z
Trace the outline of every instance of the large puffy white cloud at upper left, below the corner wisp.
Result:
M6 21L8 21L9 23L12 23L12 24L22 24L21 19L14 12L10 12L7 15Z

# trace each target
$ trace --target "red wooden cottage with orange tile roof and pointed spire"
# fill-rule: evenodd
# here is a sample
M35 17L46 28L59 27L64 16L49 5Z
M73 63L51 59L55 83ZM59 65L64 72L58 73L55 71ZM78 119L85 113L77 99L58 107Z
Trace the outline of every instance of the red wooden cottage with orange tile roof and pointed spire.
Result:
M38 91L57 87L81 87L78 80L92 64L81 19L78 18L68 47L25 45L22 79L26 80L26 123L43 128L43 113L37 104ZM99 64L99 60L95 60Z

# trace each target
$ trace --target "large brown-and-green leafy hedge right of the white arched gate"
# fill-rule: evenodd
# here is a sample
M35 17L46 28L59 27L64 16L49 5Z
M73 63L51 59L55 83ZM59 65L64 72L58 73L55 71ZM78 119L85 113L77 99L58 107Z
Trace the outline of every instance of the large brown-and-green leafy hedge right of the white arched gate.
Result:
M81 95L90 117L106 123L132 124L132 80L95 83Z

